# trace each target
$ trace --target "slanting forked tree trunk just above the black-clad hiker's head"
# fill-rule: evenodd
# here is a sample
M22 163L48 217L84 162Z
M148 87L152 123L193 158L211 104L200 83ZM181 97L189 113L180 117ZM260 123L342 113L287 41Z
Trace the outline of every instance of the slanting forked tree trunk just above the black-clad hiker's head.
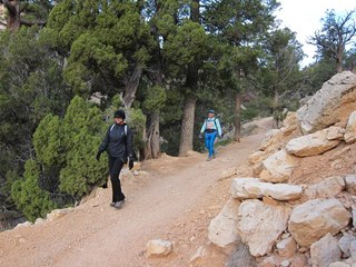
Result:
M130 108L134 103L136 91L139 86L140 79L142 76L142 67L138 66L135 68L132 75L125 75L125 95L123 95L123 106Z

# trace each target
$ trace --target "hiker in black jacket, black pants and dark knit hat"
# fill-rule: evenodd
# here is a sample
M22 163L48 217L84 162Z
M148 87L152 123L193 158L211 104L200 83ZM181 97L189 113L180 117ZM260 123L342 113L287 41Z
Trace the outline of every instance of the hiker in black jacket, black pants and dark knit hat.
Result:
M109 127L105 136L97 160L107 150L109 157L109 174L112 187L112 202L110 206L121 208L125 204L125 195L121 190L120 171L123 164L128 162L129 169L134 167L132 131L125 122L125 111L117 110L113 113L115 123Z

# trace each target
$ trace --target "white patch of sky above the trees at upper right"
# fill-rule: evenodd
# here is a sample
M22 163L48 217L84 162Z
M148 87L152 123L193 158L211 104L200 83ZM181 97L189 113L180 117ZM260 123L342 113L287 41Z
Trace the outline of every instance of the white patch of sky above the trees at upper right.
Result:
M334 9L340 16L345 16L346 11L356 9L355 0L279 0L279 2L277 19L281 20L283 27L297 32L297 40L307 55L303 66L314 61L315 47L307 44L306 41L316 30L322 29L320 19L325 17L325 11Z

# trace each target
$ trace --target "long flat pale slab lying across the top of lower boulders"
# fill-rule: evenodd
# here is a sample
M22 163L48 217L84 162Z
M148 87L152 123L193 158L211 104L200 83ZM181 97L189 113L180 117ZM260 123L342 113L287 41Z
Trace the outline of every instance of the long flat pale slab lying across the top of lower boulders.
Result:
M271 197L276 200L299 199L301 186L287 184L263 182L257 178L235 178L231 184L231 195L237 199Z

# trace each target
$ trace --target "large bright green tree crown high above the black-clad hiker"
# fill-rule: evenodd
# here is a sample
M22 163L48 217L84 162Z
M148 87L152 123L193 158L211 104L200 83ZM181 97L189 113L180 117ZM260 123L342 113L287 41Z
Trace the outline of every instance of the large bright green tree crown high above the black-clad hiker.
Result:
M115 95L150 58L151 36L132 1L62 1L50 14L52 47L69 55L66 80L77 93ZM113 92L113 93L112 93Z

